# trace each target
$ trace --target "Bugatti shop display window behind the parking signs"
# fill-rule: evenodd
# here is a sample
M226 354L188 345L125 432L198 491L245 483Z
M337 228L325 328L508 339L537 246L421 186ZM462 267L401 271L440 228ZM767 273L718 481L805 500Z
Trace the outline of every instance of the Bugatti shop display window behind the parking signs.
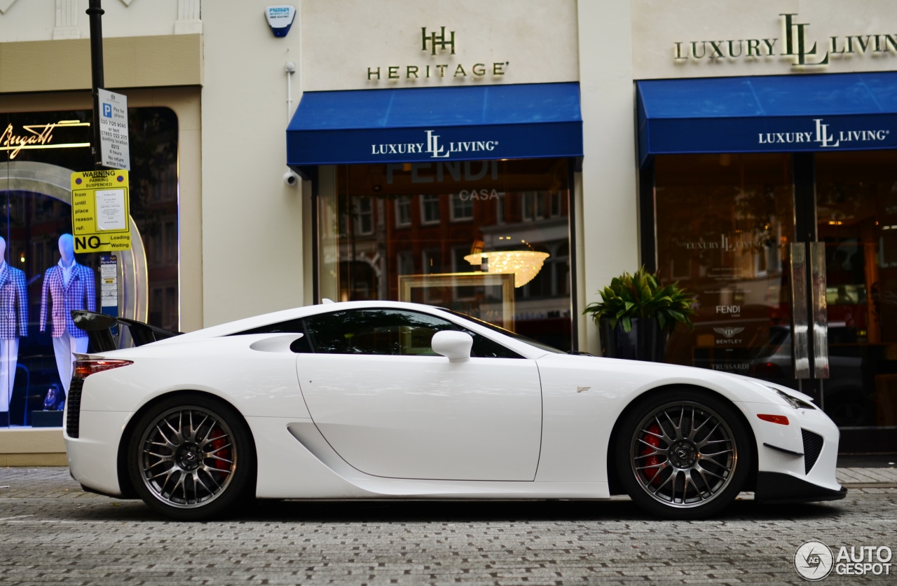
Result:
M19 292L0 301L4 304L0 311L8 316L13 310L22 321L15 324L15 336L11 332L0 336L0 352L6 353L6 366L0 368L0 414L5 414L0 419L8 424L52 424L55 419L47 412L61 411L65 405L68 378L65 356L59 350L62 336L57 334L60 326L67 332L74 325L62 323L65 311L53 310L63 298L54 293L56 285L48 286L48 279L62 270L60 239L72 233L69 178L74 171L94 169L90 125L91 110L0 115L0 237L4 244L0 282L23 282ZM127 262L140 277L124 282L126 255L121 254L119 314L130 304L138 319L178 330L178 118L168 108L132 108L128 126L129 206L136 233L132 233L133 259ZM77 302L69 301L82 309L99 311L100 254L74 255L74 265L81 268L73 272L65 267L69 270L61 273L60 291L73 300L79 297ZM73 283L79 283L79 295L71 293ZM74 334L69 349L86 351L83 332Z

